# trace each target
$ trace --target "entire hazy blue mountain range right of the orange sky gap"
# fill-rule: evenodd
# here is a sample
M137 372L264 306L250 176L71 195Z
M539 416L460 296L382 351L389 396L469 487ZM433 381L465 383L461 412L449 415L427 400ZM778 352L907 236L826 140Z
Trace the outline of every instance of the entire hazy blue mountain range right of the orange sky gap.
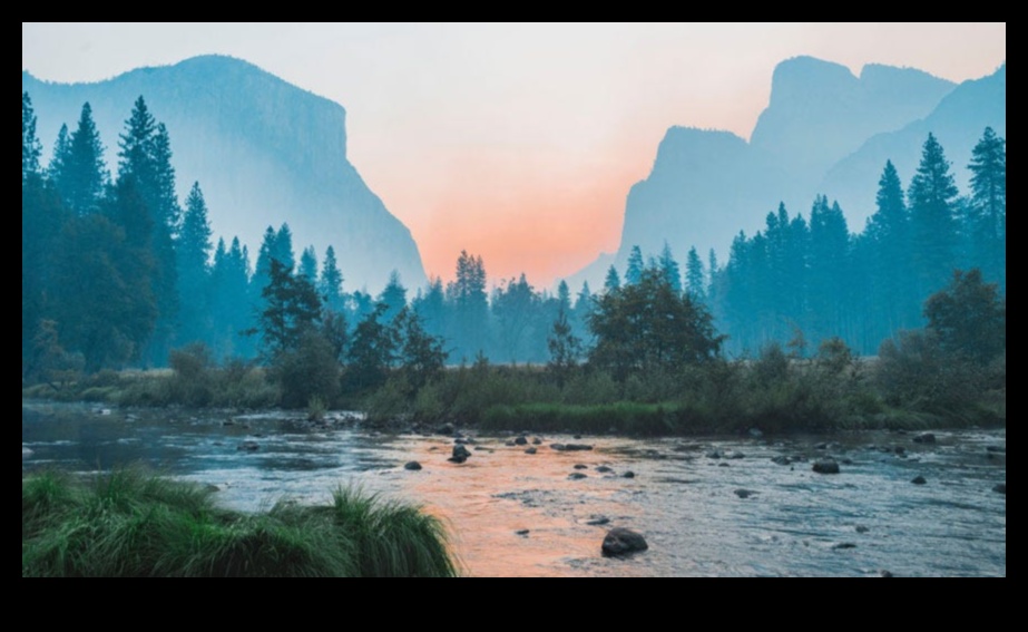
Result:
M963 171L987 125L1005 136L1006 64L956 86L909 68L868 65L858 77L811 57L785 60L748 143L727 132L667 132L650 175L628 193L614 264L623 272L632 246L657 254L665 242L678 261L696 246L704 261L714 247L726 262L732 239L761 230L779 202L807 215L821 193L838 198L851 231L860 231L887 159L907 186L934 130L954 172ZM569 283L601 283L610 261L600 257Z

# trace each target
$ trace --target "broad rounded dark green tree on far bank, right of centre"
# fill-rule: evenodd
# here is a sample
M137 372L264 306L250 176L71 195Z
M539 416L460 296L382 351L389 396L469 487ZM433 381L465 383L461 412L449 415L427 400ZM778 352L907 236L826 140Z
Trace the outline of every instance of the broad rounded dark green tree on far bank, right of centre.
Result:
M669 372L708 361L722 343L706 309L675 293L656 270L604 294L589 329L596 337L589 362L619 381L635 372Z

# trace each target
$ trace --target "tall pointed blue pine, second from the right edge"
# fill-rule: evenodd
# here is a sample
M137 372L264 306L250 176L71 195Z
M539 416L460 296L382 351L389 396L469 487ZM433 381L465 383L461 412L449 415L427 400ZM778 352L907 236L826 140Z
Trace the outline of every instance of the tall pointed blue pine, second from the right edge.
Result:
M920 298L942 286L952 274L957 247L957 223L953 217L957 194L950 163L934 135L929 134L921 150L918 173L907 195L913 225L914 265Z

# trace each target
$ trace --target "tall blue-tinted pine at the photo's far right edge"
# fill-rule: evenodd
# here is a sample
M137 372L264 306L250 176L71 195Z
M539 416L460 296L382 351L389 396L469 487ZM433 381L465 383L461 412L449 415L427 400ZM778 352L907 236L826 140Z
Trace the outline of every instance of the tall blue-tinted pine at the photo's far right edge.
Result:
M988 279L1007 289L1007 142L986 127L971 154L975 257Z

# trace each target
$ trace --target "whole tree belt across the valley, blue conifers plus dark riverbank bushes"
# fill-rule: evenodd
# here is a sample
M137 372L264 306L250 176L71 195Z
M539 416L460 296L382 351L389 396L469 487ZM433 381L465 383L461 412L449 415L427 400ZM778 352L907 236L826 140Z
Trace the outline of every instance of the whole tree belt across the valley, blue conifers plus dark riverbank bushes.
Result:
M43 165L22 94L22 386L36 393L654 434L888 425L900 410L1005 419L1006 140L991 128L966 196L929 135L905 188L883 166L860 233L822 195L806 217L767 213L723 264L636 247L575 293L490 282L468 251L449 283L412 292L393 273L378 294L347 291L335 251L297 257L286 223L252 263L238 239L215 241L199 183L179 202L144 97L117 147L108 166L85 104ZM112 372L163 367L159 383Z

